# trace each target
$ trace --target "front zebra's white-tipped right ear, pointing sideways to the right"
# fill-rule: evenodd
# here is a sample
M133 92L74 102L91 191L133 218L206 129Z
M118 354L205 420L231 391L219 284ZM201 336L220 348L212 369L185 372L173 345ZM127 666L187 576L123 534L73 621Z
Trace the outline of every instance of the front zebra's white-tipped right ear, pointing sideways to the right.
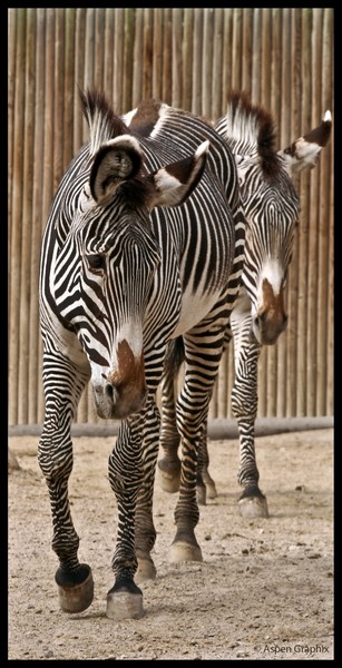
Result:
M150 185L148 207L178 206L185 202L203 175L208 148L206 140L192 156L149 174L146 177Z

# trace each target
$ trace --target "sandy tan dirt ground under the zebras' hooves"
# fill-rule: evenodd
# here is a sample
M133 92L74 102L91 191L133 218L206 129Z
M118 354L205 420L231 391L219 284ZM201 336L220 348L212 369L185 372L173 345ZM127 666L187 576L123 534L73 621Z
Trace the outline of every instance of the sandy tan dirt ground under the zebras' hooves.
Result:
M218 497L201 507L203 562L168 563L175 494L155 489L157 578L140 587L145 617L106 617L116 504L113 439L75 438L70 500L94 602L59 609L51 519L36 436L11 436L8 659L330 659L333 646L332 429L257 438L268 519L242 519L237 440L209 441Z

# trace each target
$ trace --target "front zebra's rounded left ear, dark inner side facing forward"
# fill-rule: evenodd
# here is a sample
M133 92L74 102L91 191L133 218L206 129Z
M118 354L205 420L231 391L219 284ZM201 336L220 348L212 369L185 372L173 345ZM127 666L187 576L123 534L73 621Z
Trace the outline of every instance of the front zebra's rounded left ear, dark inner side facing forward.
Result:
M89 186L97 204L105 206L123 181L137 175L143 154L130 135L120 135L102 144L95 155Z

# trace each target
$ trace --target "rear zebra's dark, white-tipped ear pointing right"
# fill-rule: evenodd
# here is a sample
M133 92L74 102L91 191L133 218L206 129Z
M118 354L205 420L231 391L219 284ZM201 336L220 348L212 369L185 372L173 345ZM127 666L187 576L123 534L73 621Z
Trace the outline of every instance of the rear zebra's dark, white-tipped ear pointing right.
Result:
M305 167L312 168L315 166L323 146L329 141L331 126L331 112L325 111L324 118L317 128L314 128L304 137L300 137L287 148L277 151L277 155L285 160L290 171L296 174Z

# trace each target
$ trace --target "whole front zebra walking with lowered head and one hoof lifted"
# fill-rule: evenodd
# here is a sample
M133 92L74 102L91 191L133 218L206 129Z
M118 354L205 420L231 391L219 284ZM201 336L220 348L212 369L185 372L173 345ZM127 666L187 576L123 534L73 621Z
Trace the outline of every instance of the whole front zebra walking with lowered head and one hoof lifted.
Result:
M92 601L94 581L78 558L68 498L70 426L91 381L98 415L120 421L108 462L118 525L106 613L139 618L138 567L140 579L155 574L156 391L167 342L182 335L186 353L173 550L177 560L196 559L196 454L241 284L245 220L234 158L207 124L160 102L124 119L99 91L80 99L89 143L60 181L41 248L46 412L38 461L50 498L59 605L80 612Z

